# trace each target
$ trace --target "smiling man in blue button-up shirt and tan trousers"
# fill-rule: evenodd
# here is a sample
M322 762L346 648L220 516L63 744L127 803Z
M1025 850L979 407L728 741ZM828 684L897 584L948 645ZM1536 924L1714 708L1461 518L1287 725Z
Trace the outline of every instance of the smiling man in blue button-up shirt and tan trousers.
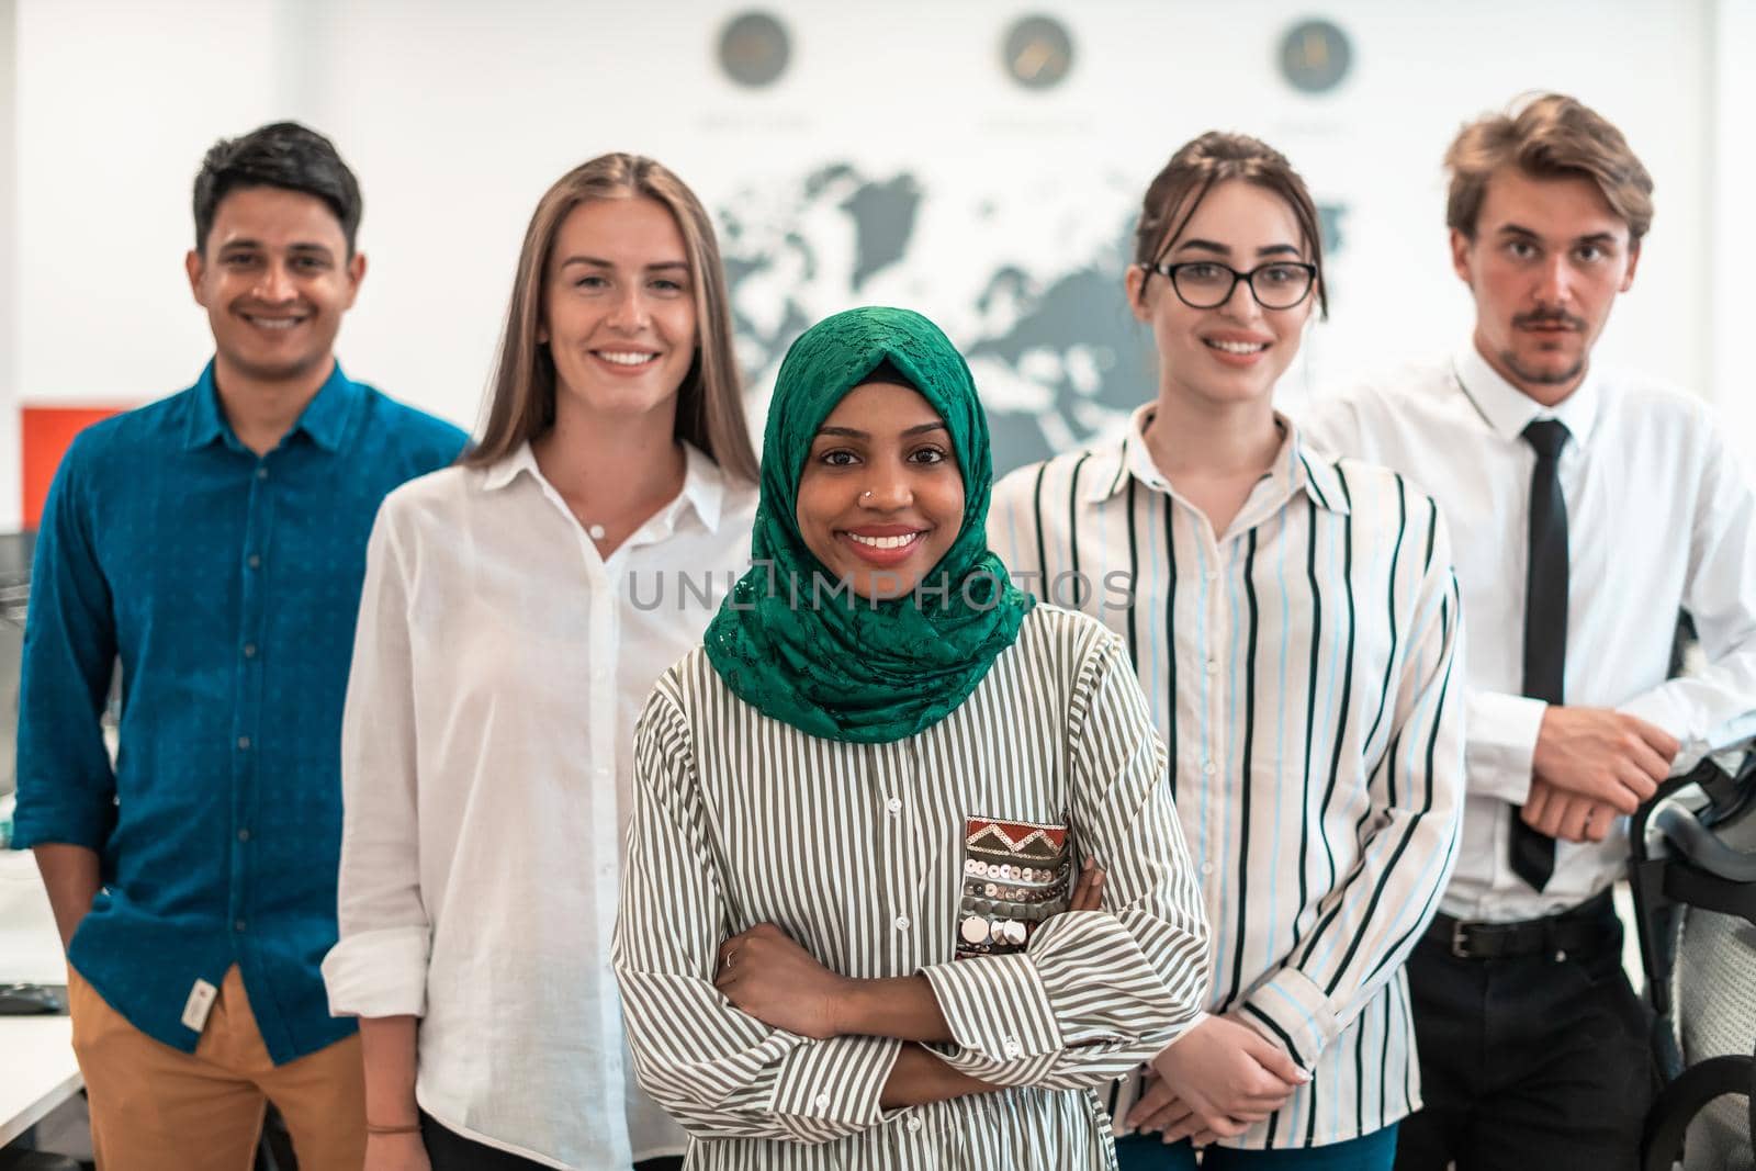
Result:
M68 950L100 1166L244 1167L265 1099L306 1167L363 1159L358 1038L318 973L342 695L379 500L465 435L337 365L358 223L328 139L216 144L186 260L214 358L83 432L44 507L16 839Z

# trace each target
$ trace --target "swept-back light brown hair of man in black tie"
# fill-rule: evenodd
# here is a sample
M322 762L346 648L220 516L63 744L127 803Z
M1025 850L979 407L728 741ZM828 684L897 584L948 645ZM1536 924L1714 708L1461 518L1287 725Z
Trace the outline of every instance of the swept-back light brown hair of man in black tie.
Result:
M1628 147L1623 132L1589 105L1565 93L1545 93L1489 114L1457 132L1445 151L1450 193L1445 226L1475 239L1487 181L1501 167L1531 179L1591 179L1610 211L1638 242L1652 226L1652 176Z

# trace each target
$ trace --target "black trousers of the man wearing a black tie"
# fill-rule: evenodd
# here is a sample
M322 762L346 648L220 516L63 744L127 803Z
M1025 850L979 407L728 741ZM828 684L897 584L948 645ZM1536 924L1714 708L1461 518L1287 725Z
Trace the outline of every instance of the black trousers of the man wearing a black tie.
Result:
M1408 960L1421 1096L1396 1171L1637 1171L1658 1083L1652 1015L1623 973L1623 927L1565 959Z

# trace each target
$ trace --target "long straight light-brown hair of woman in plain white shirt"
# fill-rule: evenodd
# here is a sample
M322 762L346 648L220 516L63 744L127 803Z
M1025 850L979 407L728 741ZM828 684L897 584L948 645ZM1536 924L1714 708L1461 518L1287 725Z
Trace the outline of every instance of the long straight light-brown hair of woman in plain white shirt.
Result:
M755 483L757 455L745 423L745 399L732 356L732 314L713 221L695 193L664 165L639 154L599 154L555 181L537 202L518 253L513 300L488 392L481 442L462 462L483 467L555 425L555 358L537 341L543 283L560 225L594 198L664 204L683 235L695 297L695 360L678 388L676 437L709 455L725 472Z

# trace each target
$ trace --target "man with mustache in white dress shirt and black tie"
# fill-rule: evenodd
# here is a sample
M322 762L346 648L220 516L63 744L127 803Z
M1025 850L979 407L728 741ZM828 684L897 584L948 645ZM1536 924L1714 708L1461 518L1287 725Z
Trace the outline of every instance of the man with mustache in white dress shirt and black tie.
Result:
M1470 344L1306 420L1438 499L1470 625L1470 795L1408 962L1426 1106L1396 1166L1631 1169L1652 1059L1608 890L1624 815L1752 730L1756 499L1700 400L1591 362L1652 219L1621 132L1547 95L1445 163ZM1709 665L1666 679L1679 609Z

